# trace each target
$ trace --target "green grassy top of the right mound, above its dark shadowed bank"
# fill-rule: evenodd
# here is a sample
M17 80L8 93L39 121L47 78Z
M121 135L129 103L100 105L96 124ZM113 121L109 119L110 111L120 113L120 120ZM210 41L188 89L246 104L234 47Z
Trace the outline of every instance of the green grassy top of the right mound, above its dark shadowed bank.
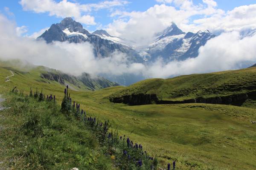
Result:
M184 101L196 98L232 96L256 91L256 68L192 74L170 79L147 79L116 91L111 97L156 94L158 100ZM244 103L248 102L248 99ZM255 102L252 103L252 107Z

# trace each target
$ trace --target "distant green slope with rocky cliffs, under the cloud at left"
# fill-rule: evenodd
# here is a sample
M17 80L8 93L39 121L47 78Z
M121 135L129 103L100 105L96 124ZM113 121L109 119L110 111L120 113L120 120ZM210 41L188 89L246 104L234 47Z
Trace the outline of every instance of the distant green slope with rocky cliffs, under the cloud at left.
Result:
M42 82L49 85L69 85L74 91L95 91L118 85L117 83L111 82L103 77L91 77L90 74L86 73L76 77L44 66L28 64L27 66L20 68L12 62L0 62L0 68L1 71L6 72L6 77L11 74L9 70L15 73L16 76L10 78L11 81L17 76L29 77L35 82Z

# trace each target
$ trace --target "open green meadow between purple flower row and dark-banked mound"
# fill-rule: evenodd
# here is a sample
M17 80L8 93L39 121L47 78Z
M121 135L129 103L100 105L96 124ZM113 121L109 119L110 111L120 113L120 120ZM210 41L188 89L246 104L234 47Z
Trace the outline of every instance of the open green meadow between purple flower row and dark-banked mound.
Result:
M118 87L122 89L122 87ZM256 110L231 105L177 104L127 106L111 103L117 88L76 94L89 114L110 119L157 153L161 164L177 160L181 170L256 168Z

